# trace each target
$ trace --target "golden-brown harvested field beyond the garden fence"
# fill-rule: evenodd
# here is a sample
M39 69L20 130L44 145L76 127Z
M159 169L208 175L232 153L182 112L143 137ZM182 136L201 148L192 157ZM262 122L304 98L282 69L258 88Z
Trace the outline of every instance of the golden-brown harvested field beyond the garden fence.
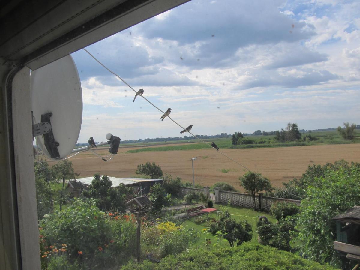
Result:
M82 152L70 160L75 172L81 172L79 177L92 176L96 172L115 177L136 177L138 164L149 161L160 165L164 174L192 181L190 159L197 157L194 161L195 183L211 186L224 181L241 190L238 177L246 170L214 149L125 153L129 149L134 148L119 148L118 154L108 162L90 152ZM300 177L313 163L324 165L339 159L360 162L360 144L224 149L222 152L279 186L293 177ZM98 149L97 153L105 155L107 148Z

